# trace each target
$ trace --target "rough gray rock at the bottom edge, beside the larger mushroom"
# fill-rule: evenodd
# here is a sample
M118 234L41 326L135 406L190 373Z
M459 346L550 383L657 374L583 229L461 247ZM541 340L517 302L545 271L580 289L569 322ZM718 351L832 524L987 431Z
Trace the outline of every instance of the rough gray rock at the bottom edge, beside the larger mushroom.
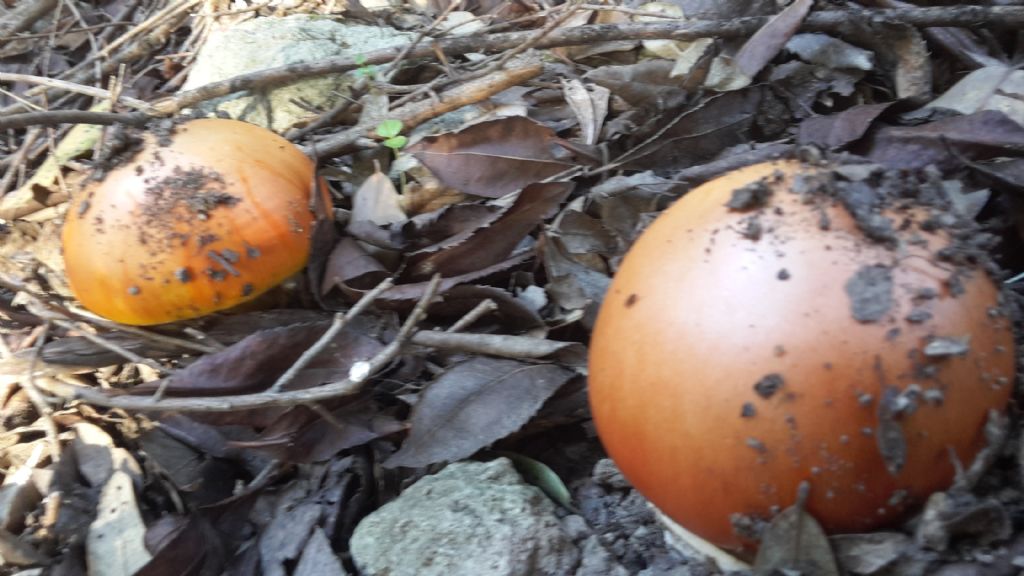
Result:
M555 505L506 458L420 480L365 518L349 547L365 576L571 575L580 563Z

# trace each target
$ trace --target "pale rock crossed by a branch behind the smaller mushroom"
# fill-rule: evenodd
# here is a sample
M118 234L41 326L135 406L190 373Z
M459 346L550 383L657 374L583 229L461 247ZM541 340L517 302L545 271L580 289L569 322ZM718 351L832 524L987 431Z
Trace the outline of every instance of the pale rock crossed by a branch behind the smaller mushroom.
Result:
M182 89L289 64L356 56L411 40L412 35L391 28L342 24L309 14L253 18L211 33L196 56ZM258 94L259 97L237 93L197 108L206 115L226 113L231 118L282 132L315 116L309 107L314 110L334 107L347 94L346 86L353 80L352 75L346 74L321 75L270 88Z

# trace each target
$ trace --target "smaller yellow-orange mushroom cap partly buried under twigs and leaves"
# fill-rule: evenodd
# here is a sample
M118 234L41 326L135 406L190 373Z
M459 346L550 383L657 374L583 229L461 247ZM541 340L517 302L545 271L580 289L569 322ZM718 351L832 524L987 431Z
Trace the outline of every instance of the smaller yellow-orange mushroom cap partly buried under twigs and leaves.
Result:
M305 264L314 164L236 120L145 136L130 161L72 203L68 280L86 308L124 324L196 318L245 302Z

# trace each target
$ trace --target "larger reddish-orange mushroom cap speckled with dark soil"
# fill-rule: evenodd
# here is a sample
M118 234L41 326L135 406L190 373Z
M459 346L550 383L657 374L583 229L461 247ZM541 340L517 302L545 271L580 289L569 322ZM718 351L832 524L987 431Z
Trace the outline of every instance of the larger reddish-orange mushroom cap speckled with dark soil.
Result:
M795 192L827 173L768 163L691 191L627 253L594 329L609 455L722 547L755 546L742 527L804 481L828 532L904 519L971 462L1013 387L996 285L936 258L950 236L934 211L887 212L897 242L869 240L837 200ZM764 206L727 206L755 182Z

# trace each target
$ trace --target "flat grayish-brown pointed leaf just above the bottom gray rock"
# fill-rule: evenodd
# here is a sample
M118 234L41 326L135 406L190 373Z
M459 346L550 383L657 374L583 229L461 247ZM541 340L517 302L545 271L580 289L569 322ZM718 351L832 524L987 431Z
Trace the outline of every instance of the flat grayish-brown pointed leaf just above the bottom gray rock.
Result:
M552 364L477 357L431 382L387 467L419 467L470 456L521 428L573 372Z

